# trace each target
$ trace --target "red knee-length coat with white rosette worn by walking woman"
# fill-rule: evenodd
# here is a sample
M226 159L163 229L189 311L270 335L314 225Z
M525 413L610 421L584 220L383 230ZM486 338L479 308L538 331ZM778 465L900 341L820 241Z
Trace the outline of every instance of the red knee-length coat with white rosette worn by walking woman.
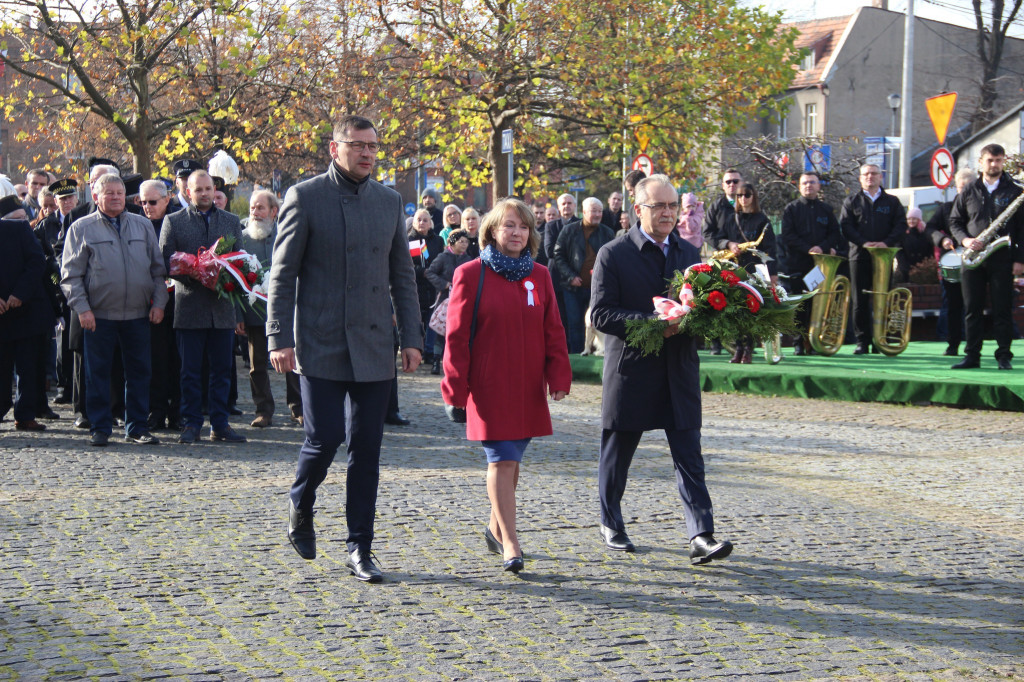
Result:
M471 356L469 328L482 266L477 259L455 271L441 394L447 404L466 407L469 440L551 435L548 394L567 393L572 382L551 274L534 264L528 305L526 280L509 282L486 269Z

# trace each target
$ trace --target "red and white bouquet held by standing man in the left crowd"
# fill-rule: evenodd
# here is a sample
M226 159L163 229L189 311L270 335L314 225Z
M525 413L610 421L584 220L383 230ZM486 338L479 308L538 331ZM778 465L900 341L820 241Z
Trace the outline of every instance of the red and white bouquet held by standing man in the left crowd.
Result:
M170 275L196 280L221 298L248 305L265 316L268 269L251 253L231 251L233 246L233 237L221 237L209 249L195 254L175 251Z

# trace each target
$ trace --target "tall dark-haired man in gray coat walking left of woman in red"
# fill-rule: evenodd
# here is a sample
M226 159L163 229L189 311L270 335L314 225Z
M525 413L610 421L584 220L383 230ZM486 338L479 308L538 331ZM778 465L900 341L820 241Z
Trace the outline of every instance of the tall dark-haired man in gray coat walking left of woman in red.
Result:
M401 198L370 177L378 150L373 123L347 117L334 128L328 171L288 190L266 323L273 368L301 375L306 438L290 496L289 541L303 559L316 557L316 487L347 440L347 565L369 583L383 580L370 549L394 378L392 302L404 372L419 367L423 346Z

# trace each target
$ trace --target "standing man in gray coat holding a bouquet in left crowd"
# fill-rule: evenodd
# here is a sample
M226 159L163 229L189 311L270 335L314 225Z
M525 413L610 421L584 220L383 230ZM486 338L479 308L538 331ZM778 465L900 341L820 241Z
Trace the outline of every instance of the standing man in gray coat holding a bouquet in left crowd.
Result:
M170 258L175 251L197 253L209 249L218 238L233 238L236 248L242 245L242 223L238 216L213 205L213 179L204 170L188 176L189 204L177 213L164 217L160 230L160 248L170 270ZM174 283L174 331L181 357L181 420L184 428L178 442L190 443L200 437L203 428L203 355L210 366L207 404L210 409L210 439L245 442L227 423L227 395L231 389L234 334L245 334L245 323L234 306L217 292L207 289L190 278Z

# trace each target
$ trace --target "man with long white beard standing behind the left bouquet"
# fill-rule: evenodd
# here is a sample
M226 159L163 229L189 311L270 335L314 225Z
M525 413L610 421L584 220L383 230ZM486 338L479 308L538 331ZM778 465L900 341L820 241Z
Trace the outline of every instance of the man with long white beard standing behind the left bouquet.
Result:
M278 197L266 189L257 189L249 199L249 219L242 230L244 251L259 258L265 267L270 267L273 242L278 238ZM246 337L249 339L249 384L256 406L256 419L252 426L270 426L273 419L273 393L270 391L270 377L267 374L269 350L266 345L266 327L261 315L250 308L245 310ZM292 421L302 423L302 396L299 393L299 375L285 374L286 399L292 413Z

